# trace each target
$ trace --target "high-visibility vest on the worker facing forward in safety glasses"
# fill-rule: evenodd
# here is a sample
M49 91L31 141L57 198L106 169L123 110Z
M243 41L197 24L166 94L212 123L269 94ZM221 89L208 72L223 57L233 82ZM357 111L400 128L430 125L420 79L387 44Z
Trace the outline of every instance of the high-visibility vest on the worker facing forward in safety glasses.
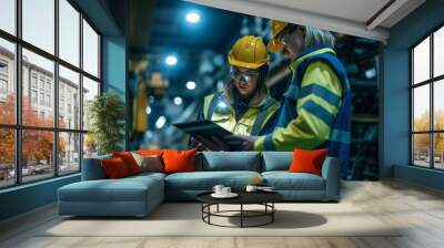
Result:
M265 125L275 116L279 110L279 102L270 95L262 100L258 106L249 106L240 120L235 120L233 106L223 92L218 92L204 97L203 117L211 120L233 134L262 135Z

